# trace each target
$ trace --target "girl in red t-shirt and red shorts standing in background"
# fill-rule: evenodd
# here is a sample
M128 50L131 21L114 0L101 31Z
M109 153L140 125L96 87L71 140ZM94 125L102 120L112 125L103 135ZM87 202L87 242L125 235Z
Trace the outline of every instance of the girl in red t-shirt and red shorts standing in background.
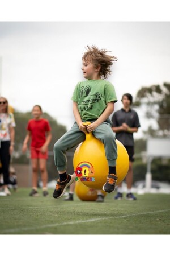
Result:
M31 163L32 163L32 191L29 196L38 196L37 181L40 168L42 180L42 195L47 196L48 173L46 159L48 159L48 145L52 139L51 128L47 119L41 118L41 106L35 105L32 109L33 119L28 121L27 135L23 142L23 153L27 151L27 144L31 139Z

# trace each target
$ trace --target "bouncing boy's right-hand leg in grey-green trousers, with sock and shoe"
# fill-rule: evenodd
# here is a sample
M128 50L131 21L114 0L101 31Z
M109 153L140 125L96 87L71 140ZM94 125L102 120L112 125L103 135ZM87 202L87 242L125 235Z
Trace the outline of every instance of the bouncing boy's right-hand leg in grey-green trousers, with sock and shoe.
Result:
M108 193L113 193L116 187L116 159L117 159L117 144L111 128L110 122L104 122L94 130L94 135L104 144L105 155L108 160L109 173L107 182L103 185L103 190Z

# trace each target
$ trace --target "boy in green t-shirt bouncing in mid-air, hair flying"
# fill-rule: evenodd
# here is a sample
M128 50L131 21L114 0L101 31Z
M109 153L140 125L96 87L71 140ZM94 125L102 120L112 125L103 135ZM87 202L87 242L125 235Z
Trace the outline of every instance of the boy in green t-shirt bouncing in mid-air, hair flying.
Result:
M53 192L54 198L62 197L74 181L73 175L66 172L66 151L84 141L86 131L92 132L104 144L109 173L103 190L114 192L117 180L117 145L109 116L114 111L117 97L114 86L105 79L111 74L111 65L117 58L107 52L105 49L99 50L96 46L87 46L87 51L82 57L82 71L86 80L78 82L71 98L75 123L70 131L54 144L54 161L59 174ZM91 122L90 125L84 126L83 122L87 121Z

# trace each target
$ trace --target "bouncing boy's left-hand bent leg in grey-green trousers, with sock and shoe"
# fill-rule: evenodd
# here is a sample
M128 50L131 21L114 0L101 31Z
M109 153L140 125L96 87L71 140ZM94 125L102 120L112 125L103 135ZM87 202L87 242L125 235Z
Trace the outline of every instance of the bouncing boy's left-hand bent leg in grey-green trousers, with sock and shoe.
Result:
M59 173L56 189L53 192L54 198L62 197L65 194L67 187L74 181L73 175L67 175L66 172L66 151L84 141L85 138L85 134L80 131L78 125L74 123L71 130L67 131L67 133L54 144L54 162Z

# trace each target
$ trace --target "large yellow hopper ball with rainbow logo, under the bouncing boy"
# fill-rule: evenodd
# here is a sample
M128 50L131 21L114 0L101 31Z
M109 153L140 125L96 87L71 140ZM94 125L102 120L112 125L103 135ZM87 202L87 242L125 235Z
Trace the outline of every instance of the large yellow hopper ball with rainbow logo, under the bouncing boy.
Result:
M116 139L117 183L121 183L129 170L129 156L123 144ZM73 157L75 180L81 181L89 188L102 189L107 180L109 171L108 161L105 157L104 144L92 133L86 133L86 139L78 145ZM81 175L81 176L80 176Z

